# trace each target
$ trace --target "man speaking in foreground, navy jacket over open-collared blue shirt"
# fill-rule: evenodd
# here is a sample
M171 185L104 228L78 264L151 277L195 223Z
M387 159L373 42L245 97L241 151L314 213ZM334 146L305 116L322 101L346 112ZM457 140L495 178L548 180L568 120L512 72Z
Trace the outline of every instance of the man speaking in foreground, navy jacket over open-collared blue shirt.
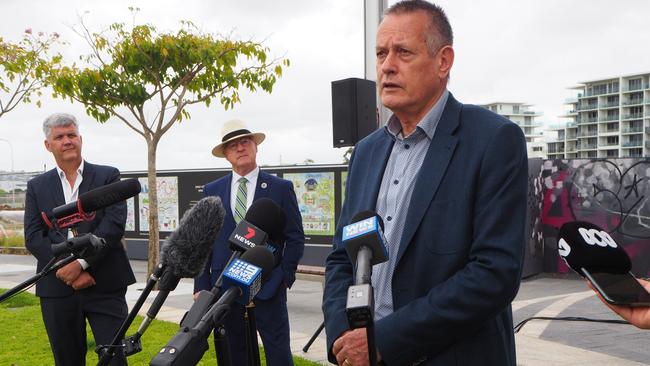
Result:
M372 273L381 362L516 365L526 143L514 123L447 91L452 38L442 9L421 0L393 5L378 28L377 85L393 115L354 149L327 258L328 356L339 365L368 364L366 330L345 315L354 265L341 243L364 210L383 218L389 252Z

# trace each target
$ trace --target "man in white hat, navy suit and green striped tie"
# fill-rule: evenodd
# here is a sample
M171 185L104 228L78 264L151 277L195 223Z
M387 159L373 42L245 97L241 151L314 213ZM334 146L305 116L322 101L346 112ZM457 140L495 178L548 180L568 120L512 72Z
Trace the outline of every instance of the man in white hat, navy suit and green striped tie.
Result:
M232 173L205 185L206 196L218 196L226 209L226 217L219 237L212 248L212 258L204 273L194 281L195 297L198 291L211 289L232 252L228 237L235 226L245 217L253 201L272 199L287 215L283 238L284 251L276 267L271 271L262 289L254 299L257 330L264 344L266 364L269 366L293 365L289 346L289 316L287 312L287 288L296 279L298 261L302 257L305 236L302 218L298 210L293 184L260 171L256 163L257 145L264 141L262 133L251 133L240 120L224 124L222 140L212 154L226 158L232 165ZM275 243L282 247L282 243ZM233 365L247 365L244 329L244 307L235 305L225 321Z

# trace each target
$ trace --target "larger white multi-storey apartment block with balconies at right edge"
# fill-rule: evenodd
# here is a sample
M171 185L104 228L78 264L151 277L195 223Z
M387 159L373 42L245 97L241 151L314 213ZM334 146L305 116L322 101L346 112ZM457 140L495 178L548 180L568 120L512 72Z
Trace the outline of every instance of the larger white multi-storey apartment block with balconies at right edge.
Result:
M580 83L549 159L650 156L650 73Z

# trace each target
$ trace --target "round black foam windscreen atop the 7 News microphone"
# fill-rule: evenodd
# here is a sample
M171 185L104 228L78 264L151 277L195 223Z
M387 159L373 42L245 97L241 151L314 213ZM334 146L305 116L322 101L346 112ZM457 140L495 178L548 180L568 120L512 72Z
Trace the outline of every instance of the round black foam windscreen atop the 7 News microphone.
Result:
M272 199L260 198L254 201L244 220L262 229L273 243L284 243L287 214Z

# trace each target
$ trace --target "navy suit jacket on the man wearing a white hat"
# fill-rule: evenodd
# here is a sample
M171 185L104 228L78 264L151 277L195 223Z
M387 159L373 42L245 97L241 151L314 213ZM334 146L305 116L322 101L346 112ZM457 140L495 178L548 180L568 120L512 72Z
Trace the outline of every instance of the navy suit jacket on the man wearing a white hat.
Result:
M214 182L210 182L203 188L206 196L221 197L223 206L226 210L223 226L219 231L219 236L212 246L212 258L201 275L194 281L194 291L210 290L216 282L224 266L228 262L232 251L228 244L228 237L235 229L235 220L232 215L230 206L230 186L232 182L232 173L222 177ZM296 280L296 269L298 261L302 257L305 248L305 235L302 230L302 218L298 210L296 194L293 191L293 184L285 179L278 178L274 175L260 171L255 187L255 196L253 200L260 198L270 198L277 203L287 214L287 226L284 230L286 237L284 252L273 271L269 274L266 282L257 297L267 300L278 291L281 284L291 287Z

